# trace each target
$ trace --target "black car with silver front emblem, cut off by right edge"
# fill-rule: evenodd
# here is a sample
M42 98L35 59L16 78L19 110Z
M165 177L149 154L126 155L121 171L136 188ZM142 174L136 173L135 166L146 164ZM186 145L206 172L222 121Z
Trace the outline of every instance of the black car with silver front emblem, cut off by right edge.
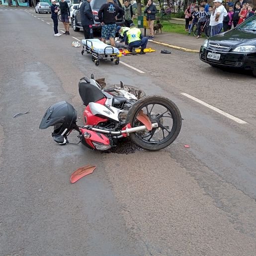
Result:
M256 15L205 40L199 58L214 67L252 70L256 76Z

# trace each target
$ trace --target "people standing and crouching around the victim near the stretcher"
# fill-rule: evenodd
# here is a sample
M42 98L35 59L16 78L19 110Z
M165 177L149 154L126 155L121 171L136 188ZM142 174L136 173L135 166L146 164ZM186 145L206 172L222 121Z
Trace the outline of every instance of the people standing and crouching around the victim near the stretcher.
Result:
M85 39L93 38L92 24L94 24L94 17L92 14L91 0L84 0L80 6L81 23L84 29ZM56 0L52 0L52 19L54 23L55 36L60 36L58 32L58 12L61 11L61 21L65 27L66 35L69 35L69 18L70 10L67 2L61 0L60 6L56 5ZM128 46L128 50L136 55L135 48L140 47L140 54L145 54L144 49L147 46L148 39L154 39L154 21L156 19L157 8L152 0L148 0L147 6L144 11L147 14L148 26L150 29L149 37L143 37L141 30L136 28L133 23L135 10L130 4L129 0L124 1L124 8L114 4L113 0L106 0L98 10L98 19L101 23L101 40L105 42L110 41L110 45L115 47L115 36L119 33L121 41ZM117 16L123 16L125 27L116 27Z

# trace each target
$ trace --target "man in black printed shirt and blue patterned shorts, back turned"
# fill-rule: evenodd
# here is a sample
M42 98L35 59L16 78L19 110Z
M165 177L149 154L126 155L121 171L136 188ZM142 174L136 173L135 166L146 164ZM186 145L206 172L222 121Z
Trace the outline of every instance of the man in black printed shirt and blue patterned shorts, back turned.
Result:
M124 15L123 8L113 3L113 0L107 0L107 3L101 5L98 11L98 18L102 25L101 41L110 41L111 46L115 46L115 32L117 14Z

